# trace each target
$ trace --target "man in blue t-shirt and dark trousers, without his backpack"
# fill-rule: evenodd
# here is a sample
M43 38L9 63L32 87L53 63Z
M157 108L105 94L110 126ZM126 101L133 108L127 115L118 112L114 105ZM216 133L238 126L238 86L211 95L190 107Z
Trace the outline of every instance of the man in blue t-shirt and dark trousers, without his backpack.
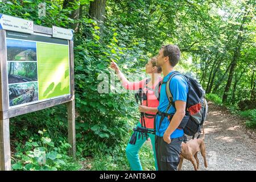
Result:
M174 73L174 67L179 62L180 49L176 45L163 46L158 55L156 65L162 67L163 83L160 88L158 114L155 118L155 150L159 171L177 170L183 140L183 129L179 129L185 115L188 85L182 75L175 75L170 81L173 105L166 94L166 82ZM162 119L161 119L162 117Z

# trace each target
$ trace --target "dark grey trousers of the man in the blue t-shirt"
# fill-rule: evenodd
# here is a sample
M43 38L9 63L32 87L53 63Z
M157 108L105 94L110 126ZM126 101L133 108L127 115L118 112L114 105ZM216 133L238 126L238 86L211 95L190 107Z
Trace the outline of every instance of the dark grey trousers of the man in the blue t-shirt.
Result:
M171 143L164 142L163 137L155 135L156 160L159 171L176 171L180 162L183 137L172 138Z

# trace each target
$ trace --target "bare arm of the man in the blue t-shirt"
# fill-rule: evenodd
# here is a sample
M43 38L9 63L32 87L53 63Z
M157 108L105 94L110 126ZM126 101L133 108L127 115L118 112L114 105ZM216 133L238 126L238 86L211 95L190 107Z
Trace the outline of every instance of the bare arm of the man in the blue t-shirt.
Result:
M181 120L185 115L186 102L184 101L175 101L176 113L172 117L170 125L167 127L167 130L164 132L163 139L166 143L171 143L170 136L180 125Z

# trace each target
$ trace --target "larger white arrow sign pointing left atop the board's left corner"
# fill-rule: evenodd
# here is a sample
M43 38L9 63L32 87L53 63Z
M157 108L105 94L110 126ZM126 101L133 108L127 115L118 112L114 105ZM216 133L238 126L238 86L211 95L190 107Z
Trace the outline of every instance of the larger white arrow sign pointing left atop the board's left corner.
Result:
M33 34L34 22L22 18L16 18L14 16L0 14L0 30L1 29Z

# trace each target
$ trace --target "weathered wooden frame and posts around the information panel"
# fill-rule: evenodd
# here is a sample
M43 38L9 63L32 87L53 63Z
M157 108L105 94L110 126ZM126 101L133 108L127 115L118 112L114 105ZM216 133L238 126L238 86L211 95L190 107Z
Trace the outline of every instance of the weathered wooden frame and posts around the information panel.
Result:
M34 32L52 35L52 28L34 25ZM7 57L6 57L6 31L0 30L0 171L11 170L10 129L9 118L27 114L48 107L67 104L68 111L68 142L72 148L69 154L76 158L76 131L75 131L75 82L74 82L74 56L73 40L69 42L69 74L71 95L43 101L36 104L9 109L8 82L7 82Z

